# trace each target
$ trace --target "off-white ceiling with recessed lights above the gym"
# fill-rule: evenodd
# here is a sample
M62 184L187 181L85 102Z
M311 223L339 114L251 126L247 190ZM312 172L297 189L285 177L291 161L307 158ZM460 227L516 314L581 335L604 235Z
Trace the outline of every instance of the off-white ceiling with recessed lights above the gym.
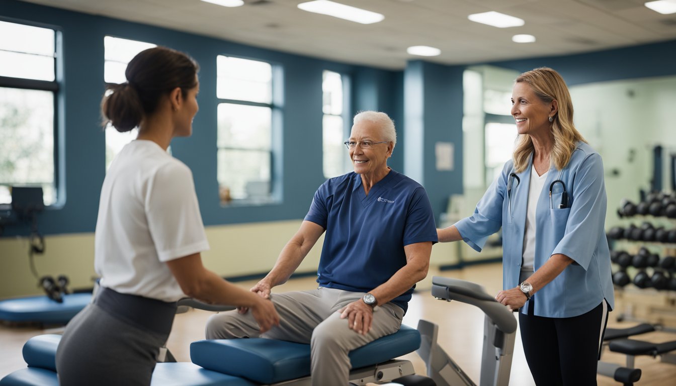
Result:
M385 15L358 24L301 11L305 0L244 0L227 8L199 0L28 0L228 41L337 62L402 69L406 47L430 45L425 60L472 64L565 55L676 39L676 14L661 15L644 0L335 0ZM525 20L496 28L469 14L499 11ZM536 43L512 43L533 34Z

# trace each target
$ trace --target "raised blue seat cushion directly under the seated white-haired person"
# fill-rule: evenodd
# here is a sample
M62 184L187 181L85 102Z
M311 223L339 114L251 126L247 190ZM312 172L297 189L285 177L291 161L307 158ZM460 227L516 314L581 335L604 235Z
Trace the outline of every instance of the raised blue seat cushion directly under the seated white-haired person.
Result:
M349 353L352 368L387 362L420 347L418 330L397 333ZM310 345L273 339L214 339L191 343L190 358L203 368L270 384L310 375Z

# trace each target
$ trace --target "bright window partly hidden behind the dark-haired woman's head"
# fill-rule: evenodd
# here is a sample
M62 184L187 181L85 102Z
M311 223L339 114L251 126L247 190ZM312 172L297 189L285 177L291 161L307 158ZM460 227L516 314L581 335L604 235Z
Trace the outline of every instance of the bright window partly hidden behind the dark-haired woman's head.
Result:
M103 46L105 48L103 80L105 80L106 83L126 82L124 72L131 59L144 49L156 47L156 45L152 43L116 37L104 37ZM105 170L108 170L110 163L120 150L122 150L122 147L133 141L138 134L138 128L128 132L119 132L110 124L105 127Z

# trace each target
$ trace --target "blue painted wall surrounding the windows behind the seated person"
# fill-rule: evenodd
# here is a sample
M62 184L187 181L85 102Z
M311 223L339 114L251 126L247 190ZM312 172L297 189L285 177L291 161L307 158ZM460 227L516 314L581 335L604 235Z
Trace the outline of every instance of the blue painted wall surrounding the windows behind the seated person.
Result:
M94 231L99 192L105 176L105 136L99 126L103 94L103 37L147 41L189 53L200 65L199 113L189 139L172 141L172 154L193 170L205 225L303 218L322 174L322 71L346 74L352 82L352 112L381 110L402 122L401 74L388 70L328 62L212 39L195 34L91 16L20 1L0 1L0 17L8 21L44 23L63 34L64 76L59 112L59 153L66 200L39 217L44 234ZM216 55L259 59L281 69L281 125L273 133L273 181L281 202L265 206L220 205L216 180ZM367 80L368 82L364 81ZM356 80L356 81L355 81ZM351 122L346 122L351 125ZM398 127L400 133L402 126ZM401 170L402 153L391 166ZM25 234L23 226L7 226L4 236Z

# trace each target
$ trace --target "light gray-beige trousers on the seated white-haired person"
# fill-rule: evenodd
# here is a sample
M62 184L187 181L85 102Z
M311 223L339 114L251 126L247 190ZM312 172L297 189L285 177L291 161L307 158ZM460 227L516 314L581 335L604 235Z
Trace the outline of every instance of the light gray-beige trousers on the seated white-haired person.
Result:
M263 337L297 343L310 343L312 352L312 385L346 386L350 363L347 354L379 337L399 331L404 310L392 303L373 312L370 331L361 335L347 326L338 310L364 296L364 292L319 287L310 291L273 293L270 299L279 313L279 326L264 334L251 312L222 312L207 322L207 339Z

